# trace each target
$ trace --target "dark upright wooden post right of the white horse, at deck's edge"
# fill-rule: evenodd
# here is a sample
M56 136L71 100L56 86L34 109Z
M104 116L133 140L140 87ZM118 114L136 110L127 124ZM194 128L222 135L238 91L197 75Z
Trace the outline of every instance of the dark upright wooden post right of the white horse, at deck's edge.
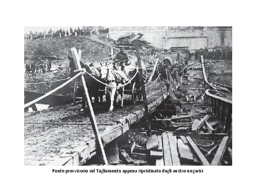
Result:
M135 49L136 49L136 56L137 56L137 60L138 60L137 63L138 63L138 67L139 67L140 84L142 86L142 95L143 95L145 118L146 118L146 128L148 129L148 135L151 136L151 127L150 127L149 113L148 113L148 101L146 99L145 84L144 84L144 79L143 79L143 70L142 70L142 65L140 63L139 44L137 41L135 41Z

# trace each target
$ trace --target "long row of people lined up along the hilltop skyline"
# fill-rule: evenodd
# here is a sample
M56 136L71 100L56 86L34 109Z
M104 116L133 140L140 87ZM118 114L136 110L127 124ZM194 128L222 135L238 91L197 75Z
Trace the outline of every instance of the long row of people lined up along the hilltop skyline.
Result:
M99 30L99 33L108 33L108 30ZM50 29L48 32L44 30L44 32L32 32L30 31L29 34L25 34L25 39L37 39L37 38L46 38L46 37L66 37L66 36L83 36L83 35L93 35L96 34L95 30L92 30L91 28L75 28L73 30L72 27L70 27L69 30L59 29L57 31L52 31Z

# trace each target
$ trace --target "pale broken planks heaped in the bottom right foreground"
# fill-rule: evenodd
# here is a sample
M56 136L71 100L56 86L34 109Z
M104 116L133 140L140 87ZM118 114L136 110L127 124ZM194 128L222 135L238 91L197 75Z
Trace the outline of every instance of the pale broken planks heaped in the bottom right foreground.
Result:
M156 148L150 150L150 157L156 158L156 165L165 166L184 164L220 165L224 161L223 155L228 145L228 136L223 137L220 145L214 145L209 151L198 147L189 136L175 136L171 132L165 132L158 136L158 139L159 146L157 150ZM232 160L232 149L228 148L227 151ZM213 154L214 152L215 154ZM210 155L214 156L211 163L207 160Z

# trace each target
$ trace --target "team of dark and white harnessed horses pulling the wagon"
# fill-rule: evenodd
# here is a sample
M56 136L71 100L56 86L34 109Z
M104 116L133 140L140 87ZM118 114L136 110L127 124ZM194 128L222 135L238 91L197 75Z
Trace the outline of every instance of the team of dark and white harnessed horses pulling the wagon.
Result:
M68 57L70 60L69 66L70 66L70 76L75 76L78 72L74 72L75 70L75 63L72 57ZM118 94L121 95L121 107L123 107L123 96L124 96L124 84L128 82L128 77L127 75L120 70L114 70L113 68L113 63L105 63L102 64L99 68L95 68L93 65L85 65L80 61L81 67L85 68L86 72L84 74L84 78L86 80L86 86L87 90L89 93L90 98L94 97L94 104L99 103L99 98L100 102L102 103L103 101L103 95L106 94L106 103L109 107L109 111L112 111L114 108L114 104L117 103L117 96ZM134 76L136 73L137 69L134 69L131 71L130 76ZM92 76L95 77L98 81L96 81ZM80 79L79 79L80 80ZM131 82L139 81L139 74L137 73L137 77L134 78L134 80ZM101 82L108 84L108 86L105 86ZM137 82L139 83L139 82ZM84 87L80 83L78 83L78 87L76 87L76 92L82 95L82 108L81 111L84 111L85 109L85 91ZM101 90L101 91L100 91Z

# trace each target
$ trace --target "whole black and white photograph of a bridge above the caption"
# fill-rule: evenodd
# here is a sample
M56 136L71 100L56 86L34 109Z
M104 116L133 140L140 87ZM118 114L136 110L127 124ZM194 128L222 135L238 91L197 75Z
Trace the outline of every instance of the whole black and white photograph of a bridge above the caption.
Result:
M24 33L25 165L232 165L232 27Z

